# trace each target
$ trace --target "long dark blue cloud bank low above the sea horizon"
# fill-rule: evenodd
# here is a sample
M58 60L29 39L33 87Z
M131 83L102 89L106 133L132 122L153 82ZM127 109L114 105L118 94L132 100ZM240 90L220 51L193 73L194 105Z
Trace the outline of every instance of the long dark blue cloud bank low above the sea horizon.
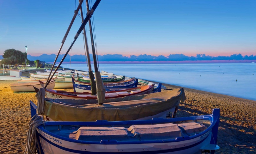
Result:
M60 62L61 59L63 58L64 54L59 55L57 62ZM31 56L28 55L29 60L36 60L39 59L40 61L45 61L45 62L53 62L56 58L55 54L42 54L41 56ZM85 62L86 60L85 55L73 55L71 56L71 61L77 61L77 62ZM151 56L151 55L131 55L130 57L128 56L123 56L121 54L106 54L106 55L98 55L97 58L99 61L105 61L105 62L157 62L157 61L243 61L243 60L256 60L256 55L250 55L250 56L242 56L240 53L239 54L233 54L230 56L206 56L205 54L197 54L197 56L186 56L184 54L170 54L169 56L165 57L163 55L159 56ZM3 59L2 56L0 55L0 59ZM93 61L92 54L90 54L90 60ZM70 61L70 55L67 55L66 58L64 59L64 62L69 62Z

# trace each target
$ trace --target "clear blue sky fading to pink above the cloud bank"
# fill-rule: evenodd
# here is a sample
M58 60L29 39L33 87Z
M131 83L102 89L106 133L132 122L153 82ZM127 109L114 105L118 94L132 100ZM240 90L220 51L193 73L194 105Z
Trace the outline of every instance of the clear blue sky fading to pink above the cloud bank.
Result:
M78 0L0 0L0 55L9 48L25 52L25 46L31 56L57 54L77 5ZM256 55L255 8L255 0L102 0L93 15L97 53ZM61 54L80 25L77 16ZM88 24L86 29L89 38ZM84 55L82 33L71 54Z

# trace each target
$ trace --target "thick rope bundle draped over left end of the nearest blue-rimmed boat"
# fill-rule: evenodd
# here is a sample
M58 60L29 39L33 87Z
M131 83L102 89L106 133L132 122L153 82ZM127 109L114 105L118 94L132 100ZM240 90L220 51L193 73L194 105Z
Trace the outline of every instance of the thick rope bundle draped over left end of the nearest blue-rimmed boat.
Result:
M27 133L27 145L24 154L34 154L36 153L36 145L39 145L38 140L36 139L36 128L40 125L44 125L43 116L38 116L35 114L29 121L29 130ZM40 146L39 153L41 154Z

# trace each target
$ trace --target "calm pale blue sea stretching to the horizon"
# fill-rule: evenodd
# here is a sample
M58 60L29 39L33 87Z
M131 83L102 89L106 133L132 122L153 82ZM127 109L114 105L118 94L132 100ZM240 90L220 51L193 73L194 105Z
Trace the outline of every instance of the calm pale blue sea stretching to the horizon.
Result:
M69 68L69 64L61 66ZM86 64L70 68L88 71ZM99 69L256 101L256 63L99 64Z

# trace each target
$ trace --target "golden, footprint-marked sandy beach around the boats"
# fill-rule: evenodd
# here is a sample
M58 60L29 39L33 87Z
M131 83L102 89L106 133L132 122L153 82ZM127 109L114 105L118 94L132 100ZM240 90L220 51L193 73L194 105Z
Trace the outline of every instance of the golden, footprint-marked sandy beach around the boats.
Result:
M0 154L24 153L31 118L29 101L37 102L35 92L11 91L10 84L15 82L0 81ZM167 90L180 88L163 85ZM187 100L180 103L176 117L211 114L213 108L220 108L217 142L220 150L215 153L256 153L256 101L189 88L184 90Z

